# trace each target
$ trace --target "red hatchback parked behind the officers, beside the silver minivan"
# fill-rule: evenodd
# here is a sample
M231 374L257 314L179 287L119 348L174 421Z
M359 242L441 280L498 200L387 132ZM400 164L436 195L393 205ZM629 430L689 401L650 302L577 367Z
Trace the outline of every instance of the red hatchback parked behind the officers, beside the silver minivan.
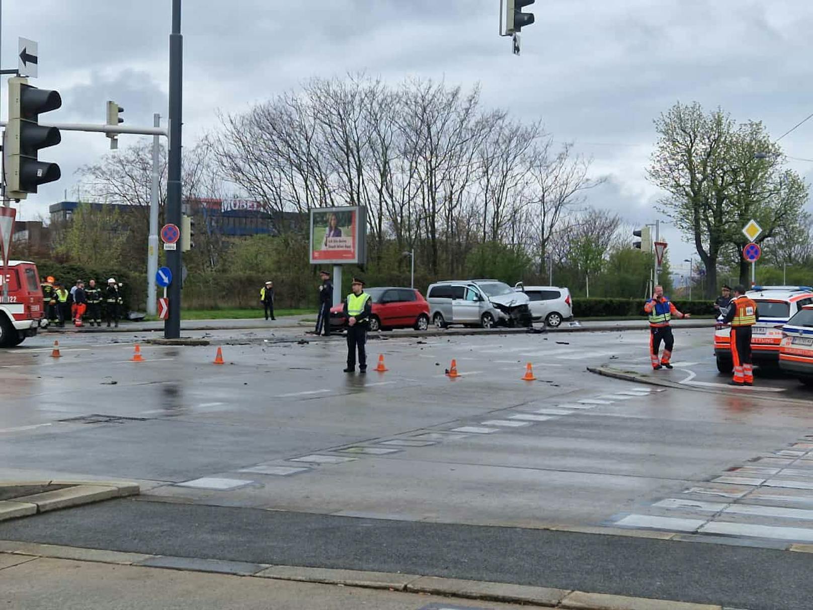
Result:
M426 330L429 326L429 303L420 290L414 288L365 288L372 298L370 330L415 329ZM343 329L347 318L341 312L342 305L330 310L330 329Z

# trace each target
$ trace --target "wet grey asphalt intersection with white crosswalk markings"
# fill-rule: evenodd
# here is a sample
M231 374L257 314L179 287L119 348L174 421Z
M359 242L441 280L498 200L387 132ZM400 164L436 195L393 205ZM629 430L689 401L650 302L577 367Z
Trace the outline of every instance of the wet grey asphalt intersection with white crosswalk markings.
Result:
M659 373L721 385L664 391L585 370L611 363L646 371L646 331L378 340L368 346L371 368L383 354L389 371L365 377L341 373L341 338L265 343L272 337L263 333L199 333L224 342L227 364L220 367L211 364L215 345L145 346L146 362L133 363L131 337L121 333L65 338L60 359L49 356L49 336L0 353L0 476L132 478L146 489L137 501L2 525L0 538L110 548L133 539L158 544L168 541L155 532L128 536L115 512L150 532L148 514L163 523L193 518L216 529L217 522L237 524L257 509L260 515L272 509L317 521L399 521L407 529L421 522L498 525L520 528L506 530L520 538L549 527L656 529L684 537L689 555L705 547L689 540L746 545L720 545L720 552L736 553L730 559L740 563L749 557L776 563L788 582L799 565L809 565L809 555L758 555L767 552L758 547L813 541L813 437L807 438L813 416L805 403L781 402L809 393L793 380L760 377L761 390L728 390L714 369L706 329L676 333L676 368ZM444 375L452 358L462 374L456 380ZM520 381L526 362L537 381ZM237 513L218 516L227 508ZM246 517L238 516L240 509ZM107 516L96 518L100 511ZM80 527L85 515L96 524L92 535ZM216 555L228 548L239 559L232 557L239 545L222 538L226 532L210 538L206 529L185 532L185 542L173 541L181 547L176 551ZM459 532L459 563L427 542L428 567L505 580L488 562L465 569L465 549L473 547ZM653 542L676 545L646 541ZM496 538L486 546L492 543ZM569 543L546 544L555 551ZM381 562L389 569L401 561L408 571L411 560L395 547L394 563ZM350 556L364 549L359 540ZM662 552L646 547L654 556ZM560 567L579 573L584 559L562 561ZM587 582L589 590L641 590L646 573L622 577L632 569L624 561L617 568ZM523 571L519 564L515 570L521 582L559 586L546 581L545 570ZM586 573L595 576L595 568ZM684 590L686 599L698 599L703 590L680 578L667 581L663 589L650 588L652 596L668 599ZM720 590L736 585L733 577ZM761 597L754 595L746 587L741 603L732 605L790 607L772 605L776 598L764 587Z

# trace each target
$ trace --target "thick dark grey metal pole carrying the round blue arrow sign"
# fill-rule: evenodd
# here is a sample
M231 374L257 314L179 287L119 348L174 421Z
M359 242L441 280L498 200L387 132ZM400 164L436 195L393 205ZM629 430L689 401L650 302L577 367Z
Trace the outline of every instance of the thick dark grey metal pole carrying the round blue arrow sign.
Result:
M167 223L180 227L180 126L183 110L183 51L184 38L180 35L180 0L172 0L172 33L169 35L169 154L167 163ZM169 317L163 326L167 339L180 338L180 246L167 251L167 266L172 271L169 286Z

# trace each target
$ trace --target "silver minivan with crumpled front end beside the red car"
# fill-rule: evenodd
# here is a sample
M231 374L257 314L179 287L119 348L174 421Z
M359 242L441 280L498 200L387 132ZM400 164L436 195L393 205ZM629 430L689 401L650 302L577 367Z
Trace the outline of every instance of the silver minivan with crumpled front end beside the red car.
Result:
M437 328L530 326L528 296L498 280L439 281L429 286L429 317Z

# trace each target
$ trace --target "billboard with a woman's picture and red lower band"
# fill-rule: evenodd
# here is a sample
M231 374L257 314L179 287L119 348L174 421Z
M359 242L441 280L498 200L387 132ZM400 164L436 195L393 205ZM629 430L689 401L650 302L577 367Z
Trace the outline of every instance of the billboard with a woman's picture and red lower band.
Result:
M367 208L311 209L311 264L364 264Z

